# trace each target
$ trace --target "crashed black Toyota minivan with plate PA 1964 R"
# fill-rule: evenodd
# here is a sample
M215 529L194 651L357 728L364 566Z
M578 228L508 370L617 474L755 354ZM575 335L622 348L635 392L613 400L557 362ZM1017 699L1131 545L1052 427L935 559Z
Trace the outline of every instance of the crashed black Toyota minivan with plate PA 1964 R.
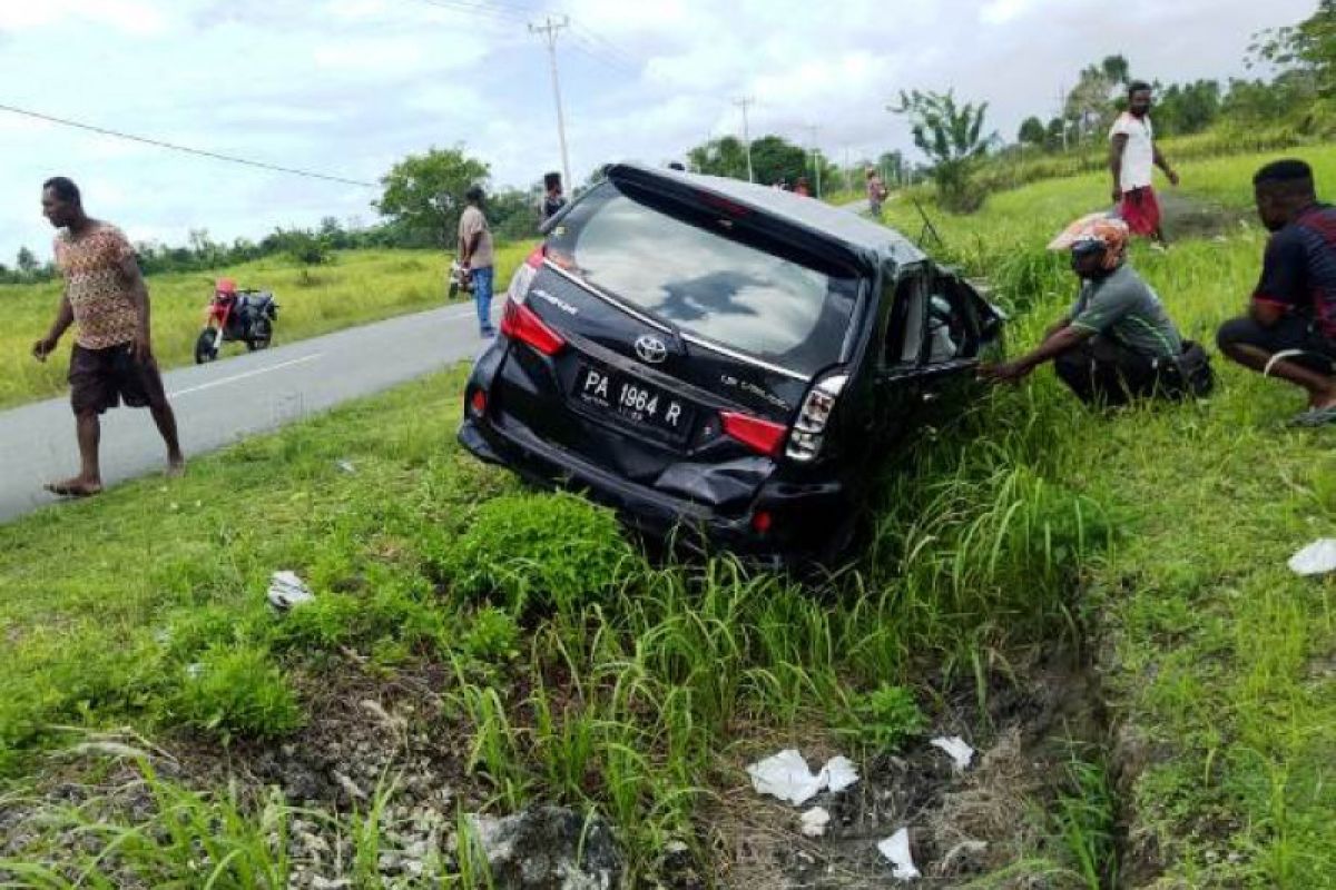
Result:
M961 398L1002 316L894 230L639 164L546 226L465 390L482 460L655 535L830 559L868 470Z

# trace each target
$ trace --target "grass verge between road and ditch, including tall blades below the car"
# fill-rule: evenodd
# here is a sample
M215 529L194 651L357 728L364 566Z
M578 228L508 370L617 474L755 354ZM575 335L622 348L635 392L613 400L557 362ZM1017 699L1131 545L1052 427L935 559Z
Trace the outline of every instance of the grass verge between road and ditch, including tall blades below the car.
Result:
M605 512L462 455L461 384L430 378L0 527L0 770L24 787L43 751L124 725L283 735L346 651L389 677L434 663L450 722L426 729L466 727L462 767L494 806L597 807L644 875L669 841L707 855L721 759L798 733L878 754L923 729L888 683L986 682L989 652L1070 634L1066 591L1109 532L1093 488L1054 478L1071 454L1037 451L1013 404L1002 447L943 431L914 458L935 482L887 483L876 547L824 594L728 559L652 567ZM273 615L275 568L314 603Z

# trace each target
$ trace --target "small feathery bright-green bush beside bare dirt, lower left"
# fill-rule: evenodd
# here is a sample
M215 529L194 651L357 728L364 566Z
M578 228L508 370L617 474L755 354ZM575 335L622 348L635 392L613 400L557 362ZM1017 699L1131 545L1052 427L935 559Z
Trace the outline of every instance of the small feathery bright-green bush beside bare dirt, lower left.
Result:
M287 735L305 723L297 694L262 648L212 648L184 674L172 714L224 742Z

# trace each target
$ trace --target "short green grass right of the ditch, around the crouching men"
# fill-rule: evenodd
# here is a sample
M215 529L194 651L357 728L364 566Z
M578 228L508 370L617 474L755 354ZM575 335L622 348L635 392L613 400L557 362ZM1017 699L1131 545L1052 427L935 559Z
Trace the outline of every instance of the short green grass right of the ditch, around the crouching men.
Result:
M1336 188L1336 149L1293 153ZM1271 157L1184 164L1185 189L1242 208L1252 171ZM1031 346L1074 290L1043 243L1104 200L1102 177L1088 176L937 220L950 254L1021 311L1013 348ZM918 231L904 207L888 215ZM1256 224L1234 224L1225 239L1165 255L1138 246L1133 262L1181 327L1212 344L1246 303L1264 243ZM1049 427L1054 447L1079 451L1075 478L1106 480L1136 516L1136 532L1085 572L1110 643L1113 706L1154 751L1126 805L1137 842L1157 847L1188 886L1331 886L1332 586L1293 576L1285 559L1336 520L1333 434L1284 427L1303 407L1297 391L1218 358L1216 370L1208 403L1078 414ZM1042 403L1067 398L1046 371L1025 391Z

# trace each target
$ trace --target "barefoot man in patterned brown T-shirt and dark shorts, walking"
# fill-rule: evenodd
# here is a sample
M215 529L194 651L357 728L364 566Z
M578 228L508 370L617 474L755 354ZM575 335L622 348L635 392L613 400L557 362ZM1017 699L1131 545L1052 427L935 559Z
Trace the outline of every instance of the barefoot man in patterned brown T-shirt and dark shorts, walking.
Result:
M41 213L55 226L56 264L65 279L56 320L32 346L39 362L75 326L69 354L69 404L75 412L81 468L77 476L48 483L52 494L87 498L102 491L98 446L99 416L122 402L147 407L167 444L168 475L186 462L176 440L176 418L167 404L150 338L148 287L139 274L135 251L114 226L90 219L79 187L64 176L41 187Z

